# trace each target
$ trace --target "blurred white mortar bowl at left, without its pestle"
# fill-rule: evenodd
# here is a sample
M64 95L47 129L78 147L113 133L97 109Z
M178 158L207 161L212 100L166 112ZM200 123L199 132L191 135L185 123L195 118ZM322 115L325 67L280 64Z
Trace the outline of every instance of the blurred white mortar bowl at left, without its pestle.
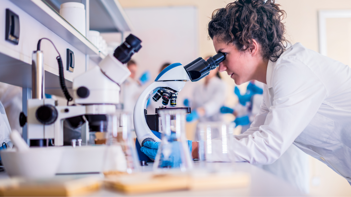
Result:
M2 150L0 154L9 176L49 178L57 173L62 147L29 148L24 152Z

